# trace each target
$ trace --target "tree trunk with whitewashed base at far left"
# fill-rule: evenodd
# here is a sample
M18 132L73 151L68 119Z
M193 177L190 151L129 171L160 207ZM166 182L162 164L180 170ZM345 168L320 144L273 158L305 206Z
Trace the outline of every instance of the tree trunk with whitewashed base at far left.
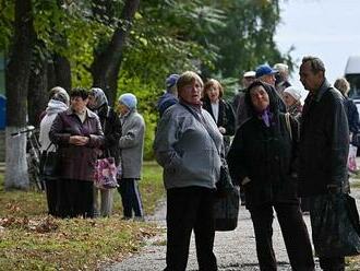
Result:
M5 70L7 89L7 169L5 189L27 189L26 138L11 133L26 126L27 87L33 49L33 15L31 0L15 0L14 40Z

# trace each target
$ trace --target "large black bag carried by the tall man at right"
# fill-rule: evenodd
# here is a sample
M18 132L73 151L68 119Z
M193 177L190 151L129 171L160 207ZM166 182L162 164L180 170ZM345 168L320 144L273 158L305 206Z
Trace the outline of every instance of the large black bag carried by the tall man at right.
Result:
M319 257L360 255L360 224L355 199L343 192L316 196L311 215Z

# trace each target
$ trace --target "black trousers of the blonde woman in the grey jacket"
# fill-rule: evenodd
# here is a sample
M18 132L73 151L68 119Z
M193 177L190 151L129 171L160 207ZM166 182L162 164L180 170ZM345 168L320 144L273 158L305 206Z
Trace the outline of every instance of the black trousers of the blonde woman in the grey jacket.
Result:
M192 229L195 234L199 270L217 270L216 257L213 252L214 197L214 190L202 187L167 190L166 271L187 269Z

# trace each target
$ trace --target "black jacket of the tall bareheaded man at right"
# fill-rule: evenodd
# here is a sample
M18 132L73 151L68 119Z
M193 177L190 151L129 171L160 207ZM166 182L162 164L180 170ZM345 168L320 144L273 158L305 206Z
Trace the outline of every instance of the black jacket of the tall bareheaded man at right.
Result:
M347 178L349 128L344 97L325 80L309 94L302 110L299 184L301 196L327 191L327 185L340 186Z

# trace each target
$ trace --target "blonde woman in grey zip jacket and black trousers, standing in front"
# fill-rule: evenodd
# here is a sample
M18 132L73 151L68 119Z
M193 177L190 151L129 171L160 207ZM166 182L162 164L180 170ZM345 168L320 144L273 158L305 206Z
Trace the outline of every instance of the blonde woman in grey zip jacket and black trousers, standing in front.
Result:
M199 270L217 270L214 246L215 182L220 172L223 137L202 108L203 81L187 71L177 81L179 104L165 111L154 142L167 190L165 270L185 270L194 231Z

